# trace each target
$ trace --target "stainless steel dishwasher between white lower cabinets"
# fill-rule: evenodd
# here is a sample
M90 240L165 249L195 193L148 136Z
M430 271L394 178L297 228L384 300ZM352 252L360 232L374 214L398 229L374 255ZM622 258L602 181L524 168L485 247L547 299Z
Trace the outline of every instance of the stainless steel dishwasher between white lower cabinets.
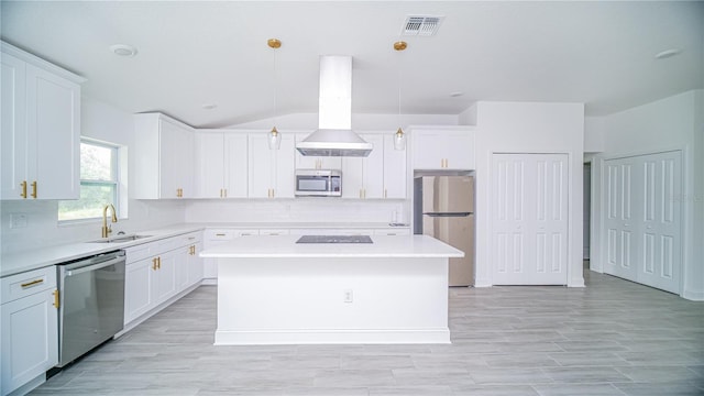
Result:
M58 367L122 330L124 251L58 264Z

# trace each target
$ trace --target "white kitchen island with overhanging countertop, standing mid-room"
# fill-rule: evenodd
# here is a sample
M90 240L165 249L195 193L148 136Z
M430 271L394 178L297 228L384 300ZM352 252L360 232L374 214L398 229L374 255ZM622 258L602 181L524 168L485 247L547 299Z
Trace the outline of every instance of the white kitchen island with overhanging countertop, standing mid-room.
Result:
M449 343L448 258L426 235L373 243L244 237L204 251L218 262L216 345Z

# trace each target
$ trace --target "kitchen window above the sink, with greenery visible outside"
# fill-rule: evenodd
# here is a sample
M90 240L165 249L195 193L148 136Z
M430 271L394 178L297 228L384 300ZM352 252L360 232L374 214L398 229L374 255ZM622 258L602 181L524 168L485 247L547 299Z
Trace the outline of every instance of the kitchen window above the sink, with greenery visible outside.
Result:
M80 140L80 198L58 202L59 222L101 219L108 204L114 206L118 216L124 216L120 205L121 152L111 143Z

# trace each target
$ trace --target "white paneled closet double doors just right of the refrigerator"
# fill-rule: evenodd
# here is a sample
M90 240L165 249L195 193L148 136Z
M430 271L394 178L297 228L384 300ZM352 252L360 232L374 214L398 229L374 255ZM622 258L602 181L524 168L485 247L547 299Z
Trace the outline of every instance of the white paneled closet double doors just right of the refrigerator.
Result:
M494 154L495 285L566 285L568 155Z

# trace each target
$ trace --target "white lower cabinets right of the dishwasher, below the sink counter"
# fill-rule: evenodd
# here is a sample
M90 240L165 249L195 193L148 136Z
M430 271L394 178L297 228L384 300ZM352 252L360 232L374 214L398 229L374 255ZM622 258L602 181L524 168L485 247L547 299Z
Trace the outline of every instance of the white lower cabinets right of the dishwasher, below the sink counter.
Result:
M202 279L200 232L127 249L125 326Z

